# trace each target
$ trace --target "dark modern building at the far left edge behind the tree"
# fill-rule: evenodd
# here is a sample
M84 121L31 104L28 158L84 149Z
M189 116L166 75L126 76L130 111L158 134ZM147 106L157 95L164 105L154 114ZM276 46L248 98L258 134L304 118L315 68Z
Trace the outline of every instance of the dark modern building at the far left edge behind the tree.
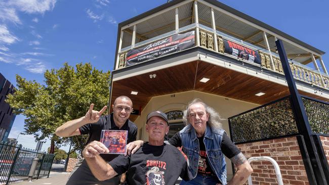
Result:
M5 102L6 96L13 94L14 91L14 85L0 73L0 141L7 142L16 117L13 109Z

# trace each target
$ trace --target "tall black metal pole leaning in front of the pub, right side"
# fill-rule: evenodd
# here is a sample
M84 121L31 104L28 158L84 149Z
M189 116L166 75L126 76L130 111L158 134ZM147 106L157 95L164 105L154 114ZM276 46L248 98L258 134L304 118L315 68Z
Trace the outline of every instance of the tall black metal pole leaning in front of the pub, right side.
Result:
M305 144L306 144L306 150L308 153L308 156L302 156L303 158L309 157L312 167L310 170L314 171L316 182L312 182L309 177L310 184L327 184L322 165L319 160L318 153L316 151L316 147L314 144L314 140L312 137L312 130L310 127L310 124L308 122L308 118L305 112L305 107L302 102L302 99L299 95L299 92L296 87L296 83L292 74L292 71L289 66L289 61L287 59L283 43L280 39L275 41L276 48L278 51L278 54L280 56L280 60L282 63L282 68L284 71L285 79L288 84L290 94L291 94L291 101L292 101L292 109L295 113L296 122L297 122L297 128L299 133L301 133L304 136ZM314 178L313 178L314 179Z

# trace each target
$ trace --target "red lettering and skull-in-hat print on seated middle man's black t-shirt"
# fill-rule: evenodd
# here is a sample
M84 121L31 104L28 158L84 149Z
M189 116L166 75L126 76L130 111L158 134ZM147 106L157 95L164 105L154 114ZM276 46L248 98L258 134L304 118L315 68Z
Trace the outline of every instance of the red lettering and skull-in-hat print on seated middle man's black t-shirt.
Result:
M146 160L146 167L150 167L146 172L147 185L165 185L165 172L159 168L166 170L166 162Z

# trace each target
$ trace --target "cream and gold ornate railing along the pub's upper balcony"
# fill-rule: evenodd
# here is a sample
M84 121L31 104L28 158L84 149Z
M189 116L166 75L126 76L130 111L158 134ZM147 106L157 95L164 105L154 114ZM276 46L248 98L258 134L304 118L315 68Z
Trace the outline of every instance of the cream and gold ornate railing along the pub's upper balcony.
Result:
M260 63L254 63L254 62L250 62L249 60L243 59L243 58L239 58L240 61L243 62L249 62L253 65L259 66L261 68L265 68L268 70L271 70L273 72L276 73L280 73L283 74L283 69L282 69L282 65L281 65L281 61L278 57L278 55L276 53L270 52L270 51L266 51L263 48L260 48L256 45L253 45L251 43L239 40L235 37L232 37L230 35L227 35L223 32L220 31L216 31L216 34L214 34L213 29L209 28L207 26L204 26L202 24L198 24L199 26L196 26L196 24L191 24L188 26L185 26L183 28L179 29L179 33L182 32L186 32L189 30L195 30L195 34L199 34L199 44L197 45L195 42L196 47L202 47L208 50L211 50L213 52L217 52L220 53L222 55L231 57L231 58L235 58L237 59L236 56L233 55L229 55L227 53L225 53L225 45L224 45L224 39L225 40L230 40L232 42L235 42L239 45L242 45L243 47L246 47L248 49L251 49L253 51L258 52L259 57L260 57ZM198 29L196 29L198 28ZM197 32L198 30L198 32ZM159 36L156 36L154 38L145 40L143 42L140 42L138 44L135 45L135 48L131 48L131 47L126 47L124 49L121 50L121 52L118 54L118 65L117 65L117 69L120 68L124 68L126 67L126 58L127 58L127 53L130 50L134 50L140 47L143 47L147 44L150 44L152 42L161 40L165 37L171 36L177 34L175 31L171 31ZM197 38L197 37L196 37ZM215 47L215 38L217 39L217 49ZM265 51L264 51L265 50ZM273 62L271 62L271 57L270 54L272 55L272 59ZM170 54L168 54L170 55ZM151 60L151 59L150 59ZM303 64L300 64L294 60L290 60L290 67L293 73L293 76L295 79L306 82L308 84L311 84L312 86L318 86L321 88L326 88L329 89L329 76L325 73L319 72L315 69L311 69Z

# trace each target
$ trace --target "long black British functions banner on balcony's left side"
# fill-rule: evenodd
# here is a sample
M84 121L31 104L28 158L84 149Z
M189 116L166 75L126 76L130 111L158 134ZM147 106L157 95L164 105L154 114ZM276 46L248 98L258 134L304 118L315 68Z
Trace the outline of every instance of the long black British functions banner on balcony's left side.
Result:
M194 30L178 33L127 53L126 66L194 47Z

